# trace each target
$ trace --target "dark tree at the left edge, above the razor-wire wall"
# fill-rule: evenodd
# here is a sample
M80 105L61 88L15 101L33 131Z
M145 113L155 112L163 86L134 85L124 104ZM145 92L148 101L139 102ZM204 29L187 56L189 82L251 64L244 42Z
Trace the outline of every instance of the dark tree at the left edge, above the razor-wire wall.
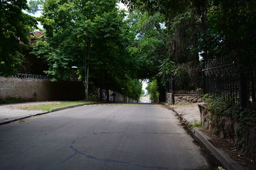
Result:
M17 66L22 63L20 53L28 45L29 31L36 27L35 18L24 13L27 1L0 1L0 76L10 76L17 72Z

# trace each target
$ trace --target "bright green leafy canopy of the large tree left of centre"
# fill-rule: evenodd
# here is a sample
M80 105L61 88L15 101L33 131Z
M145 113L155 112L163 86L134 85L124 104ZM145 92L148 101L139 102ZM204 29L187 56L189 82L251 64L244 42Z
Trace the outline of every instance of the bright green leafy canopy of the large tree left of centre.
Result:
M84 59L90 69L120 65L115 59L125 57L124 13L115 4L115 0L45 1L41 18L46 35L42 41L46 41L38 41L34 53L47 60L45 73L52 80L69 80L71 67L83 67Z

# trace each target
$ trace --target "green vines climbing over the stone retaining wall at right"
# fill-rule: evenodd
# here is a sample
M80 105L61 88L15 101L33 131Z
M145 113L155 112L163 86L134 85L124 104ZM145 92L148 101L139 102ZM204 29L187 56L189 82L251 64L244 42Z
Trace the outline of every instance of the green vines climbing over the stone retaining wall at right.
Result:
M249 104L250 105L250 104ZM239 104L234 103L234 99L228 98L214 98L211 103L206 107L207 110L211 111L214 115L215 125L214 125L214 132L216 134L220 134L221 131L226 131L223 129L223 124L221 118L230 117L232 118L233 122L236 122L236 127L234 138L235 138L235 145L237 146L237 150L239 152L248 155L251 158L255 158L255 153L253 152L252 148L255 146L255 142L252 141L252 125L256 123L256 110L252 106L249 106L245 110L239 109ZM213 117L209 117L212 120ZM230 127L233 125L230 124ZM230 134L231 136L233 134Z

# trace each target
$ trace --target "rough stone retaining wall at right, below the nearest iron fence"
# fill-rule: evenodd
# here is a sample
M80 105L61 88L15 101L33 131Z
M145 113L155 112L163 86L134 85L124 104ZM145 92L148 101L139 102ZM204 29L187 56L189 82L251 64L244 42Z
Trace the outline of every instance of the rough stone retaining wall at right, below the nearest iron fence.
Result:
M256 124L246 122L236 122L231 117L212 114L207 110L206 103L198 104L200 110L200 118L205 129L213 132L221 139L227 140L230 145L236 146L239 152L248 155L252 160L256 161Z

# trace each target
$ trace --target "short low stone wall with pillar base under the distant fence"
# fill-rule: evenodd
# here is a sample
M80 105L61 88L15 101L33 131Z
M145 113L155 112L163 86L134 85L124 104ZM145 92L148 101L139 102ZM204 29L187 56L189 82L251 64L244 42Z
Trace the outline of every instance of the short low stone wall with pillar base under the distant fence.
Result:
M189 102L189 103L200 103L202 102L202 95L198 94L175 94L175 104ZM166 100L168 103L172 103L172 93L166 94Z

